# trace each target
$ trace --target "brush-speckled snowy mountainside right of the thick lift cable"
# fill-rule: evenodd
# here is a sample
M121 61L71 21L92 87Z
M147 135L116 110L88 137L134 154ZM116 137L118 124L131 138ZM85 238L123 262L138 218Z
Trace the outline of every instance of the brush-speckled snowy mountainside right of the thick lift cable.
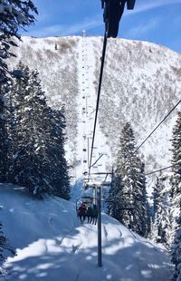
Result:
M100 48L97 42L94 45L99 62ZM180 100L180 70L181 55L163 46L127 40L109 41L100 99L100 123L114 151L119 128L126 121L132 124L140 144ZM147 170L167 165L175 116L176 111L142 147ZM113 135L116 138L112 138Z

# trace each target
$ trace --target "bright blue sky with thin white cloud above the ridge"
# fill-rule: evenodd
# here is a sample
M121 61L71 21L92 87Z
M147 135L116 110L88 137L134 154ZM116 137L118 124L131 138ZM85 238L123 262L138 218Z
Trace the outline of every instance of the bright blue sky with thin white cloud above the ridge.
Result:
M103 35L100 0L33 0L39 15L27 35ZM119 24L119 37L163 44L181 52L181 0L136 0Z

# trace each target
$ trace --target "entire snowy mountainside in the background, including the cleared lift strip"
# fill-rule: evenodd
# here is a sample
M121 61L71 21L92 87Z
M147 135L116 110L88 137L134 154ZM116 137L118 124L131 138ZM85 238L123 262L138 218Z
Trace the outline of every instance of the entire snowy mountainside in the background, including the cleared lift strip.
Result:
M17 58L11 60L12 66L22 60L39 70L52 107L64 102L67 158L76 179L86 169L86 157L89 162L85 149L89 150L91 143L101 50L101 37L24 37L20 48L14 51ZM179 101L180 73L180 53L147 42L109 39L100 95L99 136L95 143L98 152L94 160L101 153L106 157L102 157L98 170L104 170L105 162L110 170L119 131L126 121L131 122L139 144ZM147 171L169 165L169 140L175 120L176 111L141 148Z

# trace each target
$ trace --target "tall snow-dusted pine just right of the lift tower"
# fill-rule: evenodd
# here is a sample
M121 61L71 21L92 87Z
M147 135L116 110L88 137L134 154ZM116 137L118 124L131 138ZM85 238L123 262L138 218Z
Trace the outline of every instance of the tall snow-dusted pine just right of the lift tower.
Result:
M123 207L121 221L141 236L147 236L149 212L144 165L136 152L135 137L131 125L126 123L120 133L117 173L122 178Z

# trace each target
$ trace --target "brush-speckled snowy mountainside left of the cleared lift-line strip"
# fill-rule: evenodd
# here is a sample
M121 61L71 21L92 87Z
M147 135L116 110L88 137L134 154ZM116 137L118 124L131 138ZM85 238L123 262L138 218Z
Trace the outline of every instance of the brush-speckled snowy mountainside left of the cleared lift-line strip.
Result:
M19 44L20 48L14 48L17 58L11 59L12 68L19 61L28 65L31 69L37 69L46 92L48 102L53 109L59 109L64 105L70 164L77 161L76 145L77 136L77 95L78 88L78 44L79 38L39 38L24 37Z

